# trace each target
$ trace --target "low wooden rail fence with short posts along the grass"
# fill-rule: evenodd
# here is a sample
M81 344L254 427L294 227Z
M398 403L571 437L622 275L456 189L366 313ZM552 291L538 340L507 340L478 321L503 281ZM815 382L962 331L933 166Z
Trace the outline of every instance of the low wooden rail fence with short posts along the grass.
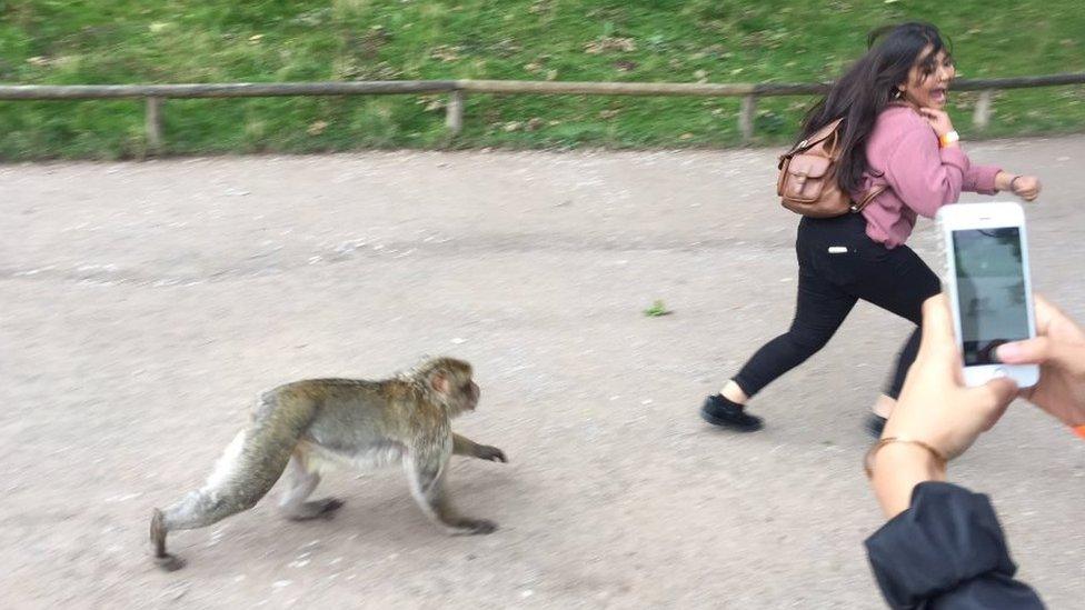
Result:
M1033 87L1085 84L1085 72L962 79L958 91L979 91L973 123L984 129L991 120L994 91ZM189 84L0 84L0 100L145 99L147 143L162 147L162 101L182 98L266 98L282 96L394 96L448 93L445 124L455 136L464 127L468 93L536 96L695 96L739 97L738 129L744 142L754 137L758 98L824 93L829 83L681 83L681 82L560 82L525 80L402 80L358 82L230 82Z

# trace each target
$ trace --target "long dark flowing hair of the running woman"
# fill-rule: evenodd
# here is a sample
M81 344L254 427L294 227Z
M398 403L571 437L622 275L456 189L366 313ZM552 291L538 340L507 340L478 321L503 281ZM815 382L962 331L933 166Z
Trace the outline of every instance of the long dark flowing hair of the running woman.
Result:
M845 192L859 190L863 172L867 169L866 140L874 130L874 122L896 98L897 86L908 80L908 71L928 44L933 49L922 68L934 70L935 57L946 48L938 28L930 23L912 22L870 32L867 53L833 83L825 99L806 113L800 140L844 118L843 149L836 179Z

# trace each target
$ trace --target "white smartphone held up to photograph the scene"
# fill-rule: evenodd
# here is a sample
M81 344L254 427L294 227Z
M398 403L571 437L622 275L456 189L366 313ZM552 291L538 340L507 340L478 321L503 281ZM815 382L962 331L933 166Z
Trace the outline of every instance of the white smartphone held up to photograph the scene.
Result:
M1035 364L1002 364L998 346L1036 336L1025 212L1017 203L957 203L938 210L945 246L943 284L953 308L965 383L1009 377L1039 380Z

